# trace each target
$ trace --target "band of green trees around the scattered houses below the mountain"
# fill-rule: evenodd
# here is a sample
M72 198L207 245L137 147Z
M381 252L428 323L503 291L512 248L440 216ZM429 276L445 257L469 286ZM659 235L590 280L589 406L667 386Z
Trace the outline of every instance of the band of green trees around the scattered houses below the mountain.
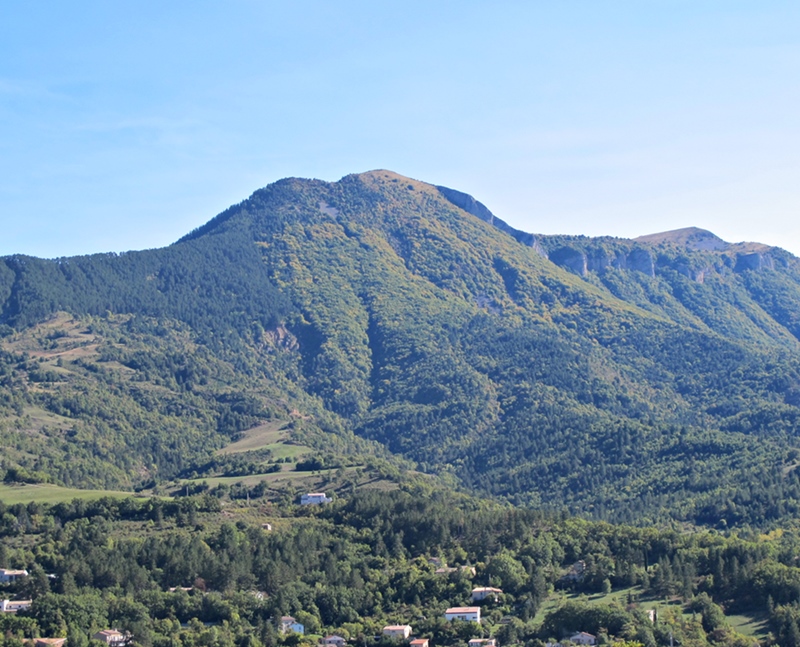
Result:
M0 566L30 572L3 594L33 599L0 618L3 647L86 644L109 626L142 647L297 647L325 633L385 647L374 636L396 623L441 647L541 647L577 631L648 647L800 644L796 530L612 526L419 485L322 507L210 494L0 505L0 520ZM480 603L481 624L446 622L476 586L502 589ZM288 614L305 637L278 631Z

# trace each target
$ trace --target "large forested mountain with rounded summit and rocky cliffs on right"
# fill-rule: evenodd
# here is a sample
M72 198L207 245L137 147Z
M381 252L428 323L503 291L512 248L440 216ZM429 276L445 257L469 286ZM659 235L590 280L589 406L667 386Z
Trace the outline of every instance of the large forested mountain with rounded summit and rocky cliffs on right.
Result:
M778 248L528 234L372 171L281 180L160 250L6 257L0 303L12 476L141 486L272 421L326 460L600 518L800 504L800 261Z

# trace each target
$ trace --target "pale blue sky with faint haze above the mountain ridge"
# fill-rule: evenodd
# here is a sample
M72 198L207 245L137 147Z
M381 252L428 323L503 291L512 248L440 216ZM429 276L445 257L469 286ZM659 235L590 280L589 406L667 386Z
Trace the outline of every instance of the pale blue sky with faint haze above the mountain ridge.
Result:
M0 0L0 255L375 168L526 231L800 255L800 3Z

